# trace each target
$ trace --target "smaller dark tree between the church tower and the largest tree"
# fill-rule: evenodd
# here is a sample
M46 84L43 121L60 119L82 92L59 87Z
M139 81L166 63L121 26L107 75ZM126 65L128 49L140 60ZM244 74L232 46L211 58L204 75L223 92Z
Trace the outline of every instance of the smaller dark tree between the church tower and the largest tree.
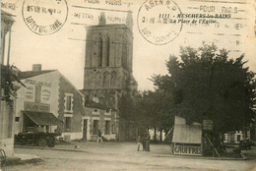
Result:
M161 91L146 90L124 93L118 100L119 116L125 121L133 123L140 129L139 132L153 128L167 133L173 125L173 116L162 109L170 109L169 99Z

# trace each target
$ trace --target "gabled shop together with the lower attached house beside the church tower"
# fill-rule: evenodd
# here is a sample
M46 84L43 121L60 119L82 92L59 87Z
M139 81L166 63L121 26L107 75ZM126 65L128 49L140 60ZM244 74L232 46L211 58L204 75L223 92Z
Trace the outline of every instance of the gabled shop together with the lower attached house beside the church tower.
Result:
M57 70L21 72L25 87L18 91L15 133L28 131L34 125L47 132L57 132L66 141L96 140L100 130L106 140L116 140L116 111L96 101L85 101L84 94ZM61 124L56 124L58 121Z

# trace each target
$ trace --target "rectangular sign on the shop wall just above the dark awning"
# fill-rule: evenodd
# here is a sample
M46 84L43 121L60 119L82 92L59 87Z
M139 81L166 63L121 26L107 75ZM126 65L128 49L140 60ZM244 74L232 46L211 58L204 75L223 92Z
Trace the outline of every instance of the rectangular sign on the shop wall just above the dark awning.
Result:
M24 102L24 111L50 112L50 105L25 101Z

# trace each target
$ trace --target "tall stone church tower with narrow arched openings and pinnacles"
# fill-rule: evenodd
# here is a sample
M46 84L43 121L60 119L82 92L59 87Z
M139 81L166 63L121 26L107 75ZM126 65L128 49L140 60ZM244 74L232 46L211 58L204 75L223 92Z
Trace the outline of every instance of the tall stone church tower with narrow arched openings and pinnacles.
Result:
M106 25L101 13L98 26L87 28L83 93L109 107L116 108L118 95L137 88L132 74L132 28L131 13L126 25Z

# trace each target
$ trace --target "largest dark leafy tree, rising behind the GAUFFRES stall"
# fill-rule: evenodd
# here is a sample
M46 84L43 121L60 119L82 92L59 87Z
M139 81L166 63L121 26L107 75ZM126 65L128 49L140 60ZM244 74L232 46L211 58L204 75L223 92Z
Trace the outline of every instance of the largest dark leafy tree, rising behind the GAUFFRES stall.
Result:
M180 59L171 55L166 61L168 74L152 78L157 91L170 97L162 110L188 124L212 119L215 133L244 129L255 114L256 82L243 58L229 59L228 51L214 44L181 47Z

